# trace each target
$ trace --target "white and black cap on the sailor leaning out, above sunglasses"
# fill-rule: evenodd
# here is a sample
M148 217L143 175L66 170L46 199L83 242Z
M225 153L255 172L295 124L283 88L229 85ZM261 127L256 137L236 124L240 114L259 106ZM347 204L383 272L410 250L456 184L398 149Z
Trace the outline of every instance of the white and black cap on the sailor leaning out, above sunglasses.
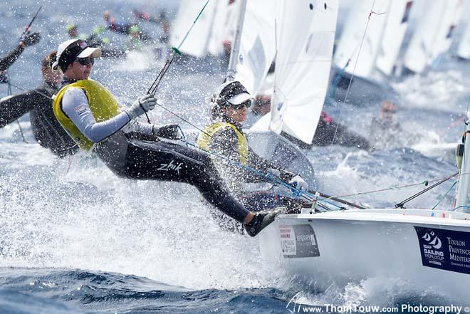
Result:
M58 46L56 61L52 64L52 68L54 70L59 66L67 68L76 58L99 58L100 56L100 48L88 47L88 44L81 39L69 39Z

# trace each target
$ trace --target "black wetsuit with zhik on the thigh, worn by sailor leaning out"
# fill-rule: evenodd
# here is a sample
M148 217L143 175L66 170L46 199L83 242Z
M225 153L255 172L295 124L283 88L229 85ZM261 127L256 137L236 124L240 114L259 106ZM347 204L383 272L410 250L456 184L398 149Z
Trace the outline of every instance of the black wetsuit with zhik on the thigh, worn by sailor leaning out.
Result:
M74 83L74 80L64 78L64 85L70 83ZM86 95L85 88L82 90ZM78 88L69 88L64 98L72 94L80 97L80 93L82 92ZM81 98L81 100L73 97L68 100L64 100L64 98L61 100L63 112L68 112L67 108L74 111L75 109L72 108L80 105L80 108L83 109L81 114L91 114L88 112L89 107L85 98ZM76 126L80 123L93 124L93 122L84 121L85 119L80 120L79 112L75 112L75 115L68 115L68 117ZM117 115L110 120L116 121L120 118L121 116ZM107 121L109 122L109 120ZM155 136L152 139L151 135L145 134L145 130L153 130L152 127L138 125L138 122L131 120L121 127L117 126L119 128L112 130L112 135L95 143L93 151L120 177L192 184L204 199L224 214L237 221L244 221L249 211L230 194L208 154L174 142L160 140ZM88 126L93 127L90 124Z

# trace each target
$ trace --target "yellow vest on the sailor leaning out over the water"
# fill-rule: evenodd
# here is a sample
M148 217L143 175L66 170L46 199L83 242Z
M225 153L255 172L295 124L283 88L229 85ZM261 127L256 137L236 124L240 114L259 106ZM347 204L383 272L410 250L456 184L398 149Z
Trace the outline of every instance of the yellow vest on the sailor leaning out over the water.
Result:
M110 120L118 115L121 110L111 92L95 80L78 80L58 91L52 105L54 115L56 115L58 122L61 123L62 127L68 132L68 135L72 137L81 149L90 150L94 143L78 130L78 127L75 126L73 121L62 110L63 95L68 88L72 87L81 88L85 91L88 98L88 106L96 122Z

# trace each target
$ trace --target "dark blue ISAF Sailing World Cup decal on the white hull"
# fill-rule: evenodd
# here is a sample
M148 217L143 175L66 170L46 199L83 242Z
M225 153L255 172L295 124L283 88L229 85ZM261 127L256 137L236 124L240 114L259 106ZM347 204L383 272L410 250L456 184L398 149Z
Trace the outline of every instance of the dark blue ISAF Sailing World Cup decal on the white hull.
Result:
M414 226L423 266L470 273L470 232Z

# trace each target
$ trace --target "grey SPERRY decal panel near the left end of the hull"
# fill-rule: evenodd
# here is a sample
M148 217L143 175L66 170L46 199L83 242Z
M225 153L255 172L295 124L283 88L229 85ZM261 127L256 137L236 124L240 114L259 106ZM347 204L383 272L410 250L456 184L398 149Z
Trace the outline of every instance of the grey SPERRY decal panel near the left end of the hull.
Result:
M279 225L284 258L320 256L315 231L309 224Z

